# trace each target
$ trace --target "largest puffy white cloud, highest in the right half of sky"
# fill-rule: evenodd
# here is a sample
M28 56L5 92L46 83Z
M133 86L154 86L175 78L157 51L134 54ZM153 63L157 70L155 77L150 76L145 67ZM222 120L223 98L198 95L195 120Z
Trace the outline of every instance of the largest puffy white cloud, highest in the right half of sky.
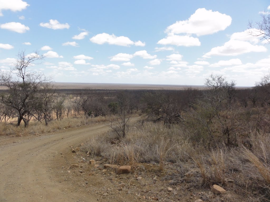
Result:
M172 34L196 34L197 36L213 34L225 30L231 25L232 18L220 12L199 8L188 20L177 21L166 29Z

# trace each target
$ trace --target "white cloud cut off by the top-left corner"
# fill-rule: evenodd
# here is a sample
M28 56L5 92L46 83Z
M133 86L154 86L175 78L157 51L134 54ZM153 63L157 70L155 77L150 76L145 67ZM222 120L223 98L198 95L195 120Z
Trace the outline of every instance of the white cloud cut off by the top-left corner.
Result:
M29 6L25 1L22 0L0 0L0 16L3 16L2 11L11 10L13 12L22 11Z

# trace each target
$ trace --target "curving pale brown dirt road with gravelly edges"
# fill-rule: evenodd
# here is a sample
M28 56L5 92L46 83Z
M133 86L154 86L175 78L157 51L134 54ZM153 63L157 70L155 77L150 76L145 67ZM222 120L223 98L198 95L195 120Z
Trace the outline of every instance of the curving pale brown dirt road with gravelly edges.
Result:
M91 193L59 183L50 170L70 145L105 130L104 124L94 124L38 137L0 139L0 201L97 201Z

